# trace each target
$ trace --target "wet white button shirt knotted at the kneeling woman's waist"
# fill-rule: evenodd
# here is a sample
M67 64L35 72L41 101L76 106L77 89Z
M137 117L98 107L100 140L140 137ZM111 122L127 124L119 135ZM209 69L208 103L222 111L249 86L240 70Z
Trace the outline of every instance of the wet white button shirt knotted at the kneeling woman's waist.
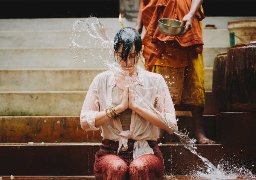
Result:
M143 99L149 104L154 104L155 96L161 91L164 95L166 94L165 118L169 125L177 129L174 105L168 86L162 75L139 68L138 80L136 90L139 91ZM96 131L102 128L101 136L104 139L119 141L117 153L128 149L128 139L136 140L133 151L134 159L143 154L154 154L146 140L156 141L159 135L158 127L149 123L149 121L142 118L135 111L132 111L130 130L122 129L119 118L116 120L111 119L100 126L95 126L96 114L99 111L105 111L107 108L112 107L112 90L114 86L116 86L116 77L112 71L105 71L94 78L85 97L80 115L82 129L85 131ZM145 103L141 102L139 99L135 98L135 102L141 107L148 108Z

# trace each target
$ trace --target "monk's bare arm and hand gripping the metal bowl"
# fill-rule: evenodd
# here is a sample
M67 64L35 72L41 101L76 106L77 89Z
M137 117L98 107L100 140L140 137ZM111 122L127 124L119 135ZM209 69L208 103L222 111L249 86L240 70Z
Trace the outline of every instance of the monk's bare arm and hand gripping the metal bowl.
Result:
M189 10L189 13L184 16L184 18L182 19L182 23L180 25L180 26L185 26L186 25L186 27L185 27L183 33L181 34L181 36L186 34L187 31L189 31L191 29L192 21L194 20L195 14L199 10L202 3L203 3L203 0L192 0L191 1L191 7L190 7L190 10Z

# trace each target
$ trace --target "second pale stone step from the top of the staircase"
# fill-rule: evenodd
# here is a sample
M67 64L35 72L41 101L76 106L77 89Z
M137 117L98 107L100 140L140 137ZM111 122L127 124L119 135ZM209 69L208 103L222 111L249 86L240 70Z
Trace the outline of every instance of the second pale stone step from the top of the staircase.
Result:
M109 29L107 34L113 39L118 29ZM78 34L78 31L75 31ZM101 41L88 35L87 31L79 33L79 39L76 41L79 45L88 48L97 48ZM0 48L32 48L32 47L69 47L73 48L72 31L70 30L16 30L16 31L0 31L1 44ZM71 39L70 39L71 38ZM75 39L77 40L77 38ZM203 30L204 46L229 47L229 31L227 29L204 29ZM100 45L100 48L102 46Z

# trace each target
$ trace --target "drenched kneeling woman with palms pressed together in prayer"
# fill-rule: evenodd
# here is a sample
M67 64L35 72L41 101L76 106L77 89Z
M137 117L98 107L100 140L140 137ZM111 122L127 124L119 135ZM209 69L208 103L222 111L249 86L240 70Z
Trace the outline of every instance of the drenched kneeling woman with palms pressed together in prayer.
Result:
M134 28L124 27L117 32L115 60L123 72L133 77L136 87L131 89L140 98L134 100L133 91L122 83L125 78L113 71L97 75L85 98L82 129L102 128L102 145L94 163L96 179L160 179L164 173L164 160L156 141L158 127L172 130L148 107L154 104L159 113L163 112L159 95L165 95L165 119L177 129L175 110L163 77L138 66L143 48Z

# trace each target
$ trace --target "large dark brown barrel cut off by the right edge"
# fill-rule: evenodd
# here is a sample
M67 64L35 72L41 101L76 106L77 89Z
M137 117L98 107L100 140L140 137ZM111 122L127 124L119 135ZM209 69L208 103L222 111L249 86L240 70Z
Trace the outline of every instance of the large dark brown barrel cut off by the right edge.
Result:
M256 111L256 43L234 45L229 49L225 89L230 112Z

